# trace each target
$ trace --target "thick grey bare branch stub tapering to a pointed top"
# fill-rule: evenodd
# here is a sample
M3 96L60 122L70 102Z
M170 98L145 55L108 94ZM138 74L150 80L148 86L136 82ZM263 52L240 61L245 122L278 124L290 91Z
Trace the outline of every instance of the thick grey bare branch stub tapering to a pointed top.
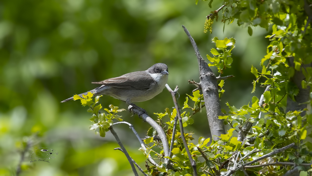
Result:
M217 78L216 75L209 68L208 63L204 61L202 56L200 55L197 44L195 43L191 34L184 26L182 27L184 29L184 32L190 39L197 56L200 78L199 84L202 88L202 94L205 100L210 132L213 140L216 141L219 139L219 136L221 136L221 134L225 134L223 120L219 119L219 115L222 115L222 112L220 108Z

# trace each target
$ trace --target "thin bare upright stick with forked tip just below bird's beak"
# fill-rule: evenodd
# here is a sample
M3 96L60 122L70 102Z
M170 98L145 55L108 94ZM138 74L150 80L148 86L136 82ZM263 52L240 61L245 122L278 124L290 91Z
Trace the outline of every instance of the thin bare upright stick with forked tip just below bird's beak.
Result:
M176 93L178 91L178 86L174 89L174 91L169 87L168 84L166 84L165 86L166 86L166 88L168 89L168 91L172 95L173 103L174 103L174 106L175 106L175 108L177 110L177 115L178 115L179 124L180 124L179 125L180 126L180 133L181 133L181 138L183 140L184 148L186 150L186 153L188 153L188 159L190 160L190 163L192 165L194 176L197 176L196 162L192 158L191 152L188 149L188 143L186 142L186 139L184 137L183 122L182 122L182 118L181 118L180 108L178 107L177 98L175 97L175 95L176 95Z

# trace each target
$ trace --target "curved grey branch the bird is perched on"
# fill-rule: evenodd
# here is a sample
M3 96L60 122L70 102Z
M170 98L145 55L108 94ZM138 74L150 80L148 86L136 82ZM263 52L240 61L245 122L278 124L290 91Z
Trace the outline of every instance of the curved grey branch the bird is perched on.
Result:
M133 107L131 105L129 105L128 109L130 111L132 111L133 113L136 113L136 114L141 114L140 116L143 118L144 122L147 122L149 123L155 130L156 132L158 133L158 136L161 140L161 142L163 143L163 153L165 154L165 157L169 157L169 143L167 141L167 136L165 134L165 132L163 131L163 128L161 128L161 126L158 125L158 123L156 123L151 117L149 117L149 115L146 114L145 110L142 108L141 109L138 109L136 107ZM170 164L170 159L168 158L165 158L165 163L167 164L167 166L169 166Z

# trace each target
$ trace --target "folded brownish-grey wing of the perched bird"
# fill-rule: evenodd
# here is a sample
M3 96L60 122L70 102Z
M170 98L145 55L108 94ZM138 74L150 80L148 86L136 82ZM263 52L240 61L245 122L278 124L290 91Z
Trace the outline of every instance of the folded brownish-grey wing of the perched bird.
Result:
M154 82L154 79L146 71L139 71L93 83L103 84L105 86L111 86L115 88L149 90L150 85Z

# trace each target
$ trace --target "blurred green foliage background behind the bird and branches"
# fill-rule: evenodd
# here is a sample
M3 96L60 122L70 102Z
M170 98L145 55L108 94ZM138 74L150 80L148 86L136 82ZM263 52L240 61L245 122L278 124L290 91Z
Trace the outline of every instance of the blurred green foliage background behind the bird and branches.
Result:
M146 70L154 63L169 68L168 84L179 86L179 103L195 88L188 80L199 81L197 58L184 25L197 42L202 56L214 47L211 39L235 38L231 69L224 75L226 102L237 107L260 97L262 88L251 94L254 76L251 65L260 67L266 54L267 31L236 21L213 24L213 33L204 33L206 16L222 4L195 0L2 0L0 1L0 175L14 175L21 151L32 143L21 163L20 175L133 175L123 153L108 132L105 138L89 130L90 113L78 101L60 103L73 94L95 88L91 84L125 73ZM221 13L221 12L220 12ZM224 29L223 29L224 28ZM217 72L215 72L217 73ZM104 96L100 103L108 108L128 105ZM137 103L156 118L154 112L172 110L167 90L152 100ZM144 138L149 125L124 111L124 120L132 123ZM210 137L205 109L193 116L194 124L186 132ZM134 134L126 125L114 127L128 152L144 168L145 157ZM47 162L30 163L37 148L58 151Z

